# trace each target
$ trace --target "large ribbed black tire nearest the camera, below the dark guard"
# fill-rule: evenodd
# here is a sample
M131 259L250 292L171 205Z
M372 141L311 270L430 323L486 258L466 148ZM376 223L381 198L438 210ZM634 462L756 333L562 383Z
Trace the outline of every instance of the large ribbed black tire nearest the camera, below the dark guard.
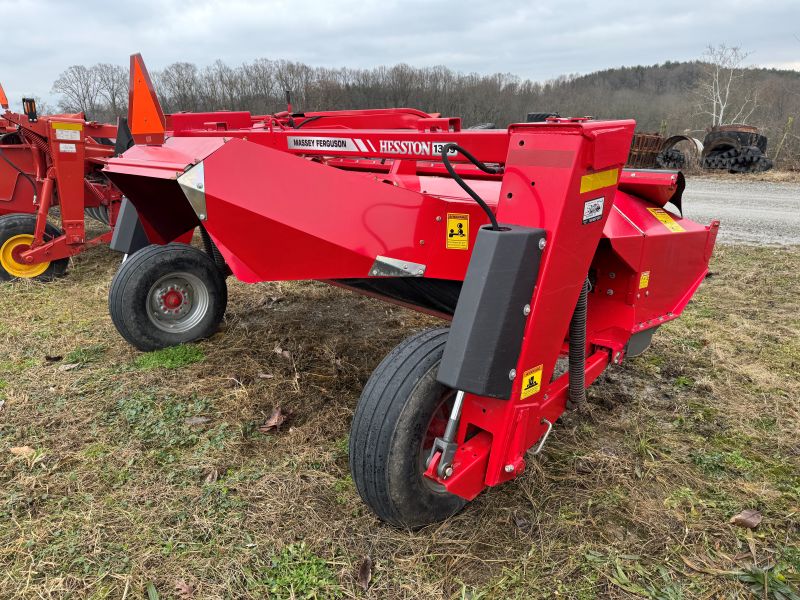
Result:
M419 460L423 436L447 391L436 373L448 331L422 331L395 347L373 371L353 417L353 481L378 518L397 527L442 521L467 502L426 483Z

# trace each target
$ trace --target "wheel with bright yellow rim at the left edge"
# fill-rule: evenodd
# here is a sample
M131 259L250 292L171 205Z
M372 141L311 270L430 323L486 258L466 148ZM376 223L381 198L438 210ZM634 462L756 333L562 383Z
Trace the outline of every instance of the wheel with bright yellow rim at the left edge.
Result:
M36 228L36 216L10 214L0 217L0 281L12 279L35 279L52 281L67 270L69 258L28 264L21 254L31 247ZM50 241L61 232L51 225L45 227L44 239Z

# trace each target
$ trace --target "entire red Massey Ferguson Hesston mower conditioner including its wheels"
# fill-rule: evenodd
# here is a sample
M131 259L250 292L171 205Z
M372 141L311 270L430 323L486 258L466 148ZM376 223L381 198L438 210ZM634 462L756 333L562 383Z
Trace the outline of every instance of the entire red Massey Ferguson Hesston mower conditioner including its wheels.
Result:
M680 216L679 173L622 170L630 120L465 130L405 109L206 113L174 115L164 141L152 86L137 85L131 129L149 140L105 173L167 245L114 278L125 339L152 350L211 335L228 271L323 280L450 321L386 356L355 411L353 480L398 526L519 476L708 270L718 222ZM168 243L195 227L210 252Z

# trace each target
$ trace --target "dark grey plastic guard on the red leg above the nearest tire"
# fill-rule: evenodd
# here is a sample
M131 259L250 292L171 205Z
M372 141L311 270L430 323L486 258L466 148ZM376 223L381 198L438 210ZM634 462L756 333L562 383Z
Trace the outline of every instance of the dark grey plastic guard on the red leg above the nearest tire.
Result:
M543 229L484 226L458 298L437 379L456 390L508 399L539 277ZM543 245L543 244L542 244Z

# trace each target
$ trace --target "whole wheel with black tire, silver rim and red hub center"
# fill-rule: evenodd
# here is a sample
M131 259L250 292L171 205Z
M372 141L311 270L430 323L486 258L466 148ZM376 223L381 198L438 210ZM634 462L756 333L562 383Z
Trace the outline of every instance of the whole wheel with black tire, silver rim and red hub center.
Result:
M213 259L187 244L148 246L129 256L108 293L117 331L145 352L213 335L227 303Z

